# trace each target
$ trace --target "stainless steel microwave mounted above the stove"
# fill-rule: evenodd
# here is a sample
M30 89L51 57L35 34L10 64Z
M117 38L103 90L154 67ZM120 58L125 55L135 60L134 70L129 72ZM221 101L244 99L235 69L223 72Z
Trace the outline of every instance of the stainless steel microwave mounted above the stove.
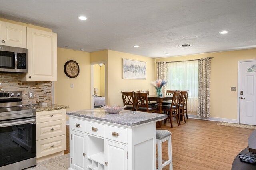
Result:
M28 72L28 49L1 45L0 53L0 72Z

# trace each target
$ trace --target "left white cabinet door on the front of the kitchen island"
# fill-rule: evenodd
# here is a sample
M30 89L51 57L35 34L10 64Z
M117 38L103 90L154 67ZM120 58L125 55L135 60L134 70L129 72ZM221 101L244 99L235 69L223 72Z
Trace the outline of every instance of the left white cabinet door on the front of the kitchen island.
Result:
M86 134L71 130L70 135L70 165L77 170L86 167Z

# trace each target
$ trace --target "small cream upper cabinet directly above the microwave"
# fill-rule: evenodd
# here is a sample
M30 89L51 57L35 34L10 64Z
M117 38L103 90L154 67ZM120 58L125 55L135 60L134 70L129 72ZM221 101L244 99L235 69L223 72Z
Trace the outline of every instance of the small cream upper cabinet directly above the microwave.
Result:
M9 22L0 22L0 45L11 47L27 48L27 27L12 24Z

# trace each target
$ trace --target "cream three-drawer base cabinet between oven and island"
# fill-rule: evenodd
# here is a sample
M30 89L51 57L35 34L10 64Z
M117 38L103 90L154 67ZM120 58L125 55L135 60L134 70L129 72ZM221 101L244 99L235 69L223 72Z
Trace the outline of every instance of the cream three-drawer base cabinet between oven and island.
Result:
M37 162L64 154L66 109L36 112Z

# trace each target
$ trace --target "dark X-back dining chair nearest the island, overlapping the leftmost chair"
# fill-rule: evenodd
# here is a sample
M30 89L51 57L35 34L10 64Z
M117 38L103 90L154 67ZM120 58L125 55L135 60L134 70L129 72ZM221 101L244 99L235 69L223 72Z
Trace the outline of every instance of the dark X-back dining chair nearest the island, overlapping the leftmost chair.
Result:
M156 113L157 108L154 105L148 105L148 94L147 93L136 93L134 92L136 110L142 112Z

